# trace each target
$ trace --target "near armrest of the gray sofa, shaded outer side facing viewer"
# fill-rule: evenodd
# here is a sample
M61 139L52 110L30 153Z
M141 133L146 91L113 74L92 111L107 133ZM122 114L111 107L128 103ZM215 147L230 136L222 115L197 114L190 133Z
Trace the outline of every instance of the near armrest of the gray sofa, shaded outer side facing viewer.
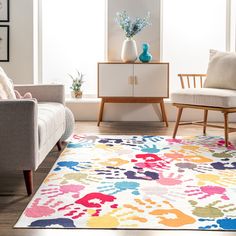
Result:
M1 169L37 168L37 113L35 99L0 100Z

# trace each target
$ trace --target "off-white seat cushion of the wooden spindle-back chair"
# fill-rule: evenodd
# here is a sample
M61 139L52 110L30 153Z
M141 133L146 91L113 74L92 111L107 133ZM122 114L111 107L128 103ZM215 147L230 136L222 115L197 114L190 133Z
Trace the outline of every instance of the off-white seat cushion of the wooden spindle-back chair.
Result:
M236 91L229 89L181 89L171 94L173 103L212 107L236 107Z

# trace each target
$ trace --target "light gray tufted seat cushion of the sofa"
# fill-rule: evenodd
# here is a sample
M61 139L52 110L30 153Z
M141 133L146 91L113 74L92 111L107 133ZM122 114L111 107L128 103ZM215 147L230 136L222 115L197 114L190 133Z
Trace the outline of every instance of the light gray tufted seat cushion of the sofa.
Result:
M64 126L65 107L60 103L38 103L39 149Z

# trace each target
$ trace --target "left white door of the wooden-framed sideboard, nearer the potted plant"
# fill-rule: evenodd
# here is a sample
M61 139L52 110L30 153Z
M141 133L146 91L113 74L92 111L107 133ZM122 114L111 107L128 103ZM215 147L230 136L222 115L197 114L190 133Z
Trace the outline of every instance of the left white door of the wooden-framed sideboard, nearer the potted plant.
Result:
M133 75L132 64L99 64L98 96L131 97L133 84L129 78Z

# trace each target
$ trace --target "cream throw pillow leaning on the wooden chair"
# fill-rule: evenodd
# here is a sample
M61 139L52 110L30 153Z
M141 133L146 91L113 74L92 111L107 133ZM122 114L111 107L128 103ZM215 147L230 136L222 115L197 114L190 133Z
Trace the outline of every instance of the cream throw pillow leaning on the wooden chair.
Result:
M204 87L236 90L236 53L210 50Z

